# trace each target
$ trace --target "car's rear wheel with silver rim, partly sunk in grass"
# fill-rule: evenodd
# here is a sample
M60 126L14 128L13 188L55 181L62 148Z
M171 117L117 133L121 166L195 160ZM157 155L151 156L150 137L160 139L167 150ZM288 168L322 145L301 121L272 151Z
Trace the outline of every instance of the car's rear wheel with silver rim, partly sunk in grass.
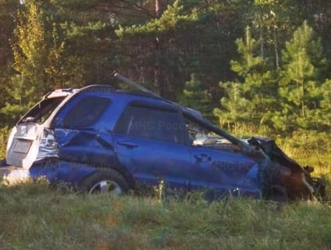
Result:
M98 169L81 181L79 190L88 194L109 193L120 196L129 190L129 186L122 174L114 169Z

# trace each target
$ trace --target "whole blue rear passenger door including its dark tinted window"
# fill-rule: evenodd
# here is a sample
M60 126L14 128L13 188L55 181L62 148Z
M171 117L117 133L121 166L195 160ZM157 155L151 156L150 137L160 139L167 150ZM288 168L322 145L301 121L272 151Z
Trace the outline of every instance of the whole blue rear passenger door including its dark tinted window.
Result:
M170 188L186 188L190 157L183 131L184 117L172 106L130 103L115 126L118 163L140 183L161 179Z

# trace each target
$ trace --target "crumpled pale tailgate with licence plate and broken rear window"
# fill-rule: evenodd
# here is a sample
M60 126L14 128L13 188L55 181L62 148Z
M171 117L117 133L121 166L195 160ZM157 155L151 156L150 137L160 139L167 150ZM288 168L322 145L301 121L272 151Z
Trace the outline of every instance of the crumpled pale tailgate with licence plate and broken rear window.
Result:
M45 137L43 124L69 93L45 97L29 110L10 133L7 145L8 165L29 169L39 158L40 141Z

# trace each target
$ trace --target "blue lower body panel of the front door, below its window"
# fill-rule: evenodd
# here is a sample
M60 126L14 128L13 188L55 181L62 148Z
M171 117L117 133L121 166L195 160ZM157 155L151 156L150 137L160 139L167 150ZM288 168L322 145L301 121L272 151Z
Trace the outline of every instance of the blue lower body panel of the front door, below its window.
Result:
M224 192L259 192L257 163L241 153L207 147L190 147L192 188L213 188ZM250 174L248 176L248 174Z

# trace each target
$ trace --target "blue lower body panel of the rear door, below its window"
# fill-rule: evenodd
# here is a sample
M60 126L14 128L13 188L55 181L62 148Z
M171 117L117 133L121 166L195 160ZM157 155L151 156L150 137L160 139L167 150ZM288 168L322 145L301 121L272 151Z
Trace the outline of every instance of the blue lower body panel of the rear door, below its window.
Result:
M156 185L163 180L170 188L188 188L190 162L184 144L116 134L115 151L136 181Z

